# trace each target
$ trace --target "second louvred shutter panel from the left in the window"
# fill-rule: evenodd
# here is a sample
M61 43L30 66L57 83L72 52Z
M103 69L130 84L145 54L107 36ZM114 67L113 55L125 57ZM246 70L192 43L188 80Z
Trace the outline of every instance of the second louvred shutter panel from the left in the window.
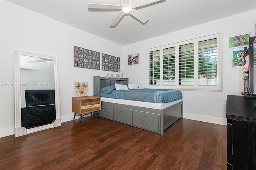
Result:
M175 47L163 49L163 85L175 85Z

